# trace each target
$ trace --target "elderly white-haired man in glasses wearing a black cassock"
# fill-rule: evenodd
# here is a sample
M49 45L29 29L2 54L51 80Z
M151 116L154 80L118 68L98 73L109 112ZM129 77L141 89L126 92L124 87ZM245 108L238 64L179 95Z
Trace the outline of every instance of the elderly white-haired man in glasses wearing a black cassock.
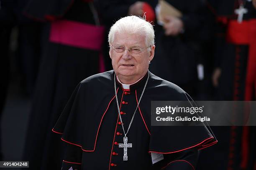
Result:
M177 85L148 71L152 25L121 18L109 45L114 70L80 82L53 128L68 144L62 170L195 169L197 150L217 142L205 126L150 125L151 101L188 100Z

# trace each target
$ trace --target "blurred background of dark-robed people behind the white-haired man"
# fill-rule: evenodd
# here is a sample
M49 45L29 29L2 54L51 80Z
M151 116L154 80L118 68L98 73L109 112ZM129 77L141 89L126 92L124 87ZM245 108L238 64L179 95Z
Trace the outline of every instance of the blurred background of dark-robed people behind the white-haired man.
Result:
M51 128L80 81L112 70L108 31L127 15L154 25L153 74L194 100L256 100L256 0L0 0L0 161L61 169ZM255 127L212 130L198 170L256 170Z

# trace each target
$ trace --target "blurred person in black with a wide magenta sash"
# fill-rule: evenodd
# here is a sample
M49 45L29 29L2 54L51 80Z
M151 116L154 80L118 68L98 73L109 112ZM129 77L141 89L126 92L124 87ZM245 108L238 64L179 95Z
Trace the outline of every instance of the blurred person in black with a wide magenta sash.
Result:
M92 0L31 0L25 15L48 25L32 100L23 160L33 170L61 169L64 144L51 129L74 87L104 70L104 28Z

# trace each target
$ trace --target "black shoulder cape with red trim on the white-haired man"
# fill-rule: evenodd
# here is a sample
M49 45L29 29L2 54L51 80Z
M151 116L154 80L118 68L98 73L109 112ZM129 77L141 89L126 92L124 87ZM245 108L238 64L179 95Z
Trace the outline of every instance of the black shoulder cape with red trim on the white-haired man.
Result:
M188 100L188 98L186 92L177 85L163 80L151 72L149 74L148 85L138 110L150 135L148 152L176 153L193 147L200 150L217 143L206 126L150 125L151 100L178 101ZM53 128L54 132L62 134L62 140L80 146L84 151L93 152L95 150L97 135L100 125L104 121L105 113L110 105L116 105L113 77L112 70L88 77L77 85ZM131 87L131 91L137 89L141 94L142 90L139 89L143 89L145 81L144 77ZM118 86L118 90L121 91L120 84ZM136 92L137 99L140 94Z

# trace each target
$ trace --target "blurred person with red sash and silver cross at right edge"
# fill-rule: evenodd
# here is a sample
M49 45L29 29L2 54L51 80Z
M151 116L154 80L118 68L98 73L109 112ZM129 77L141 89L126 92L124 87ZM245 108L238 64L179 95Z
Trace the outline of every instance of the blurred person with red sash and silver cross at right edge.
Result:
M212 84L215 100L256 99L256 9L251 0L212 0L217 22ZM246 117L245 113L245 117ZM213 127L217 146L200 154L198 169L254 170L256 129ZM212 155L212 150L215 152ZM212 155L215 159L206 159Z

